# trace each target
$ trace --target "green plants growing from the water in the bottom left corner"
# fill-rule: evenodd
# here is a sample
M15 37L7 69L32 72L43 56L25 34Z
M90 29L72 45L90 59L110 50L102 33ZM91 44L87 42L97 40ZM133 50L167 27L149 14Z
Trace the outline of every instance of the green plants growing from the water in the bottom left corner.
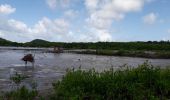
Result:
M32 90L27 89L25 86L20 87L21 82L26 78L28 77L18 73L10 77L10 80L17 85L17 89L6 92L0 96L0 100L34 100L38 96L35 82L32 84Z

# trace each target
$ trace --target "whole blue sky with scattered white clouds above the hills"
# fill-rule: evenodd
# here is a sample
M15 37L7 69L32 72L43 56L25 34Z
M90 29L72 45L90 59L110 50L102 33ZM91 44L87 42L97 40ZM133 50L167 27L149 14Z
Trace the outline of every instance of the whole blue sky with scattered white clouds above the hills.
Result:
M170 40L170 0L0 0L0 37L16 42Z

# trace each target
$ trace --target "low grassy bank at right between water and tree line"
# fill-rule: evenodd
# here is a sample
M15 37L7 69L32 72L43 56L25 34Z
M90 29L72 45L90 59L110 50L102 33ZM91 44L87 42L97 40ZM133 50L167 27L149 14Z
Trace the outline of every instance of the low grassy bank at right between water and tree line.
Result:
M93 54L122 57L141 57L152 59L170 59L169 51L136 51L136 50L70 50L71 53Z

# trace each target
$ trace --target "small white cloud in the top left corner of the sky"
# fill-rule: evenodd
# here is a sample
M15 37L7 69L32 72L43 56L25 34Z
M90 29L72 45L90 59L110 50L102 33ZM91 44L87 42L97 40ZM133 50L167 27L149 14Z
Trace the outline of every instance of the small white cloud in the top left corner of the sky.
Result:
M8 4L0 5L0 14L8 15L8 14L14 13L15 10L16 10L16 8L13 8Z

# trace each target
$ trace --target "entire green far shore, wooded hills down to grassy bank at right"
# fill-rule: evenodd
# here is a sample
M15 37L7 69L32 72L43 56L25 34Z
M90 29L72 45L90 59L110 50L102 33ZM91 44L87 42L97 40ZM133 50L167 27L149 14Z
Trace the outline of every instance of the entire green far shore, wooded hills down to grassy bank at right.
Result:
M63 47L64 49L87 49L74 53L96 54L109 56L128 56L144 58L170 58L169 41L148 41L148 42L49 42L36 39L26 43L16 43L0 38L1 46L21 46L21 47Z

